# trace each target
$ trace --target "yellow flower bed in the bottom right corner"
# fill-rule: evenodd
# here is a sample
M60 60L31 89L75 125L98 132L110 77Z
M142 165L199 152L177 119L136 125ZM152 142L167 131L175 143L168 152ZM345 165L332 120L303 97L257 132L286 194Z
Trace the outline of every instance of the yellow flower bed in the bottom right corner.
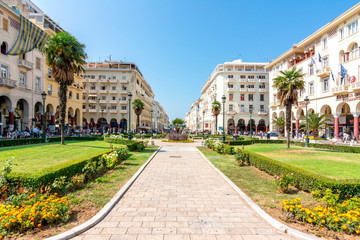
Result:
M300 198L295 198L284 200L282 209L288 219L317 225L322 229L360 235L359 200L345 200L339 206L317 206L311 209L303 207Z

